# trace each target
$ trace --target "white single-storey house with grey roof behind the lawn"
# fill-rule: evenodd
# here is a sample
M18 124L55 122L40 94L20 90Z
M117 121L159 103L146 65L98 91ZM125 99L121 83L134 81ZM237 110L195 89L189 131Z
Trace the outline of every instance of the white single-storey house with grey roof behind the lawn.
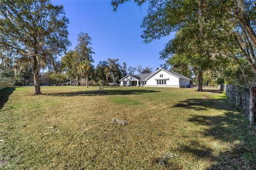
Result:
M174 71L158 69L148 74L127 74L120 86L190 87L190 79Z

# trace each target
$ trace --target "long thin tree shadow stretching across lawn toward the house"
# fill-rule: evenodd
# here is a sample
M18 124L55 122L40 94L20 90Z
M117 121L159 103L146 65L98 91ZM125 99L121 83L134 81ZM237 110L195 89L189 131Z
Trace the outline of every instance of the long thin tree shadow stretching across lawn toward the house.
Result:
M86 90L86 91L71 91L71 92L53 92L50 94L42 94L46 96L105 96L105 95L141 95L151 92L161 92L155 90Z

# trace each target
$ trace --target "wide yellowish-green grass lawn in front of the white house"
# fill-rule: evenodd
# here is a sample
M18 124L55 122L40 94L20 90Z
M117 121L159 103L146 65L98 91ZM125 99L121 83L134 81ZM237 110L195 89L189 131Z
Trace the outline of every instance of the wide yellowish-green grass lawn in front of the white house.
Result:
M255 130L217 90L33 90L1 91L0 169L256 169Z

